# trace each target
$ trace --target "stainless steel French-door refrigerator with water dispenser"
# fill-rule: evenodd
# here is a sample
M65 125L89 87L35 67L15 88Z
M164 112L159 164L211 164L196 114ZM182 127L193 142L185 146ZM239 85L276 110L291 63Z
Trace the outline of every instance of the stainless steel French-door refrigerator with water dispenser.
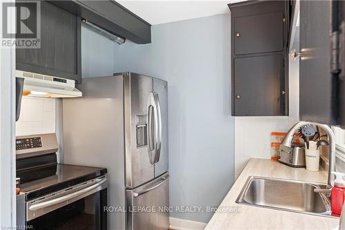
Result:
M119 73L77 88L63 99L62 161L108 169L108 229L168 229L168 83Z

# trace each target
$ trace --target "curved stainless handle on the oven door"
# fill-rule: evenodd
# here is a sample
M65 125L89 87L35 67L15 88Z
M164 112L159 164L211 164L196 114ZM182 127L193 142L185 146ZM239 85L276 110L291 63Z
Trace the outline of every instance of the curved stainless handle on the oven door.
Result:
M73 199L73 198L77 198L80 195L83 195L83 193L87 193L89 191L92 191L94 189L97 189L97 187L101 186L102 184L104 184L107 181L107 178L103 178L103 180L100 180L99 182L97 182L96 184L92 184L91 186L85 188L85 189L81 189L79 191L76 191L75 193L70 193L68 195L63 195L59 198L53 199L53 200L48 200L45 202L41 202L38 204L32 204L29 209L31 211L37 211L39 209L44 209L46 207L50 207L52 205L55 204L59 204L61 202L65 202L67 200Z

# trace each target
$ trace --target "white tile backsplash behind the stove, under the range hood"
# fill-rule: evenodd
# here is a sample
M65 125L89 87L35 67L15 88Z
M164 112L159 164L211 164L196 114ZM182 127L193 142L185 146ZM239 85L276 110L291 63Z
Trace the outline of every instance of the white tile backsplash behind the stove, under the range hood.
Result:
M16 135L55 133L55 104L54 98L23 97Z

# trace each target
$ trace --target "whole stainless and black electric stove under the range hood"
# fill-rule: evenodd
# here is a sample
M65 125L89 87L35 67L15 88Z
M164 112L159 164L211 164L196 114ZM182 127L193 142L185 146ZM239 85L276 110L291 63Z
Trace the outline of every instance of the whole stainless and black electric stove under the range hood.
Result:
M16 145L19 227L106 229L107 169L58 164L55 133L17 137Z

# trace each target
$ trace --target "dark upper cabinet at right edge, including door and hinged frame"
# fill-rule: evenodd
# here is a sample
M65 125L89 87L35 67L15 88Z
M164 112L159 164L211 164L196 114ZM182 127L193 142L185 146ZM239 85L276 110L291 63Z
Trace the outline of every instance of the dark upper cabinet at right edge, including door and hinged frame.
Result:
M299 3L299 115L345 128L345 2Z

